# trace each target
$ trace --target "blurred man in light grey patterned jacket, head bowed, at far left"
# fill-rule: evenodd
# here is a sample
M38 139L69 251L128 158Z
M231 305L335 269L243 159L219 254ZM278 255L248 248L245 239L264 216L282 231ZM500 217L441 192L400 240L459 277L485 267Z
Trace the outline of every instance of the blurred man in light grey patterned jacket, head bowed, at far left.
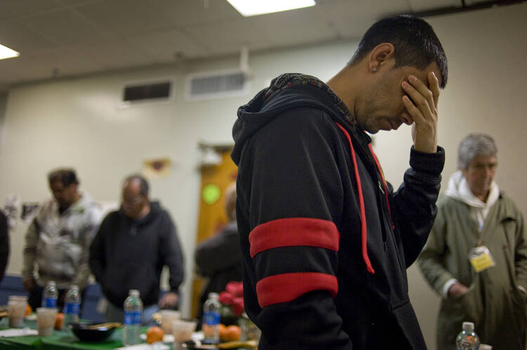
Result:
M30 292L27 302L32 309L40 307L48 281L56 282L59 309L70 285L84 292L90 275L89 245L101 218L100 206L79 191L75 170L54 170L48 183L53 198L40 206L23 250L22 284Z

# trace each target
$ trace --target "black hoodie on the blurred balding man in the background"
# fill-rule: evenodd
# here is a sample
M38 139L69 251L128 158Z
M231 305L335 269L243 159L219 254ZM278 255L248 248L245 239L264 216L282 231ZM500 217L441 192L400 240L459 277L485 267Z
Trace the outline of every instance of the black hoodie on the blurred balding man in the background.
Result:
M105 297L123 308L129 290L137 289L145 306L156 304L164 265L170 290L183 281L183 255L169 213L150 203L150 213L132 220L122 210L108 214L90 246L90 268Z

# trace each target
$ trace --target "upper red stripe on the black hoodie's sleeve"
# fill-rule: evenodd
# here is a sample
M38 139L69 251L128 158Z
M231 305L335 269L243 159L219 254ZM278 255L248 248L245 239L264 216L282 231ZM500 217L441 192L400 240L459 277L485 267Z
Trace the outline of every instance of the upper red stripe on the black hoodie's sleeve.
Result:
M278 247L308 245L339 250L339 231L333 222L308 217L291 217L259 224L249 234L251 257Z

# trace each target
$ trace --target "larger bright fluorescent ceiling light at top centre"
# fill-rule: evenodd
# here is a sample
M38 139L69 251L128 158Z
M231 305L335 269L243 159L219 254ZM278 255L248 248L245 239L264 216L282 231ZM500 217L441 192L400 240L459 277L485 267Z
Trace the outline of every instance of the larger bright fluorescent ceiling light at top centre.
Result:
M227 0L244 17L315 6L314 0Z

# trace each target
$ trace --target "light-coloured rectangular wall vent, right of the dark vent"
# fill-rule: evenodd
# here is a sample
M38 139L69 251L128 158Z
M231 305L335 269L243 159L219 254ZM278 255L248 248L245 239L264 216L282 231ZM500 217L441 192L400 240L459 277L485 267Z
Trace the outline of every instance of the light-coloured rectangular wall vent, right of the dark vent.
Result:
M247 73L240 69L189 74L186 81L187 100L246 95L249 91Z

